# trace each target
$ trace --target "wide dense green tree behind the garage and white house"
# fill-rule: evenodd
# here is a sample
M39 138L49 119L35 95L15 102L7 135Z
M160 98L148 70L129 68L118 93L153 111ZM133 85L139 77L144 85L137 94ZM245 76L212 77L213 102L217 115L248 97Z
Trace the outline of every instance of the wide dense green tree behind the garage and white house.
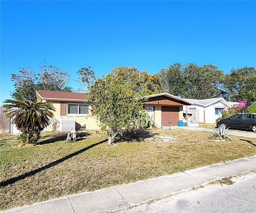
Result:
M221 94L223 72L212 64L174 63L159 73L165 91L187 99L210 99Z

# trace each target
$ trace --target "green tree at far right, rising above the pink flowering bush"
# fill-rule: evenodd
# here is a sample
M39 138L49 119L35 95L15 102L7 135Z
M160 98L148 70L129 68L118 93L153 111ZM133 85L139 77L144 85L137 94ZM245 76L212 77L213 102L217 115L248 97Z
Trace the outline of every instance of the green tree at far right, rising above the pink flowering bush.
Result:
M253 67L232 69L225 75L223 91L229 101L255 101L256 69Z

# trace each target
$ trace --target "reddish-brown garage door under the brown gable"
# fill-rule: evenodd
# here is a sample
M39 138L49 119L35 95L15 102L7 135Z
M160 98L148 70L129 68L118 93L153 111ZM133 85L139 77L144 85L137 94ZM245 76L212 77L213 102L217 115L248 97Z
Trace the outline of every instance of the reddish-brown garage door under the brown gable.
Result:
M179 106L162 106L162 126L169 126L169 121L172 126L176 126L179 120L179 111Z

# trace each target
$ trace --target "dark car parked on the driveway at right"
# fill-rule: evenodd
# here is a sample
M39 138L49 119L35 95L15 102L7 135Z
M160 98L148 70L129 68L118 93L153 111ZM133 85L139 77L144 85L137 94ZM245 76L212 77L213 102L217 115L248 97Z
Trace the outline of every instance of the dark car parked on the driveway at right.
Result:
M251 129L256 133L256 113L239 113L234 114L227 119L222 119L217 122L219 127L230 127L236 129Z

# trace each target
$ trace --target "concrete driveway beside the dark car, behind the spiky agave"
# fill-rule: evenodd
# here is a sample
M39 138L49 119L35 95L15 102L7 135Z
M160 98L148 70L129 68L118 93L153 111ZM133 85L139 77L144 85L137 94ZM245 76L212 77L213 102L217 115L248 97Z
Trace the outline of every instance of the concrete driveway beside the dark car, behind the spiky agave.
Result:
M213 132L213 130L214 130L211 128L203 128L203 127L172 127L172 128L181 128L181 129L201 131L201 132L202 131ZM256 138L256 133L245 131L245 130L244 131L236 131L233 129L229 129L229 135Z

